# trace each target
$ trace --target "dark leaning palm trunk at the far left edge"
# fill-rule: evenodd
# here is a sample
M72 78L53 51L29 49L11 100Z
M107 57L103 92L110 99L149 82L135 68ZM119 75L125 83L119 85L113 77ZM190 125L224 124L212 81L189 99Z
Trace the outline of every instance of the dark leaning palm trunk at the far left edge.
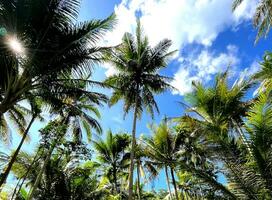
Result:
M21 139L21 141L20 141L20 143L19 143L19 145L18 145L16 151L14 152L14 154L13 154L12 157L11 157L11 160L10 160L9 163L8 163L7 168L6 168L5 171L1 174L0 188L2 188L3 184L6 182L6 179L7 179L8 175L9 175L9 173L10 173L10 170L11 170L11 168L12 168L14 162L16 161L16 158L17 158L17 156L18 156L18 154L19 154L19 152L20 152L20 150L21 150L21 147L23 146L23 143L24 143L24 141L25 141L25 139L26 139L26 136L27 136L27 134L28 134L28 132L29 132L29 129L30 129L30 127L32 126L32 124L33 124L35 118L36 118L36 115L33 115L32 118L31 118L31 121L29 122L29 124L28 124L28 126L27 126L27 128L26 128L26 130L25 130L25 132L24 132L24 134L23 134L23 137L22 137L22 139Z

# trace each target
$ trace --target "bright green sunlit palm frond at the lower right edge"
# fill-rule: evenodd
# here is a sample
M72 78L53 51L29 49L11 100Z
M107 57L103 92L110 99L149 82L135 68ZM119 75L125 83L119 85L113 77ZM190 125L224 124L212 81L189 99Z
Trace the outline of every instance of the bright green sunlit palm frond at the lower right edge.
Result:
M253 154L255 158L255 170L257 169L265 187L272 196L272 171L271 166L271 89L260 94L254 102L247 117L247 131L252 141Z

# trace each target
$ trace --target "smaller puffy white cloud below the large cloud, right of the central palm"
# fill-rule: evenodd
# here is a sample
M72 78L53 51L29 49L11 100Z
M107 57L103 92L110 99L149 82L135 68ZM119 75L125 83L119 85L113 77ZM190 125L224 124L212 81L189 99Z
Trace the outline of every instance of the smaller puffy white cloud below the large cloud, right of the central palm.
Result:
M225 53L215 54L204 49L199 54L191 54L189 57L180 59L181 66L171 82L177 90L173 90L172 93L180 95L189 93L193 89L192 81L207 83L213 75L225 71L229 66L231 71L235 71L240 63L237 54L237 47L228 45Z

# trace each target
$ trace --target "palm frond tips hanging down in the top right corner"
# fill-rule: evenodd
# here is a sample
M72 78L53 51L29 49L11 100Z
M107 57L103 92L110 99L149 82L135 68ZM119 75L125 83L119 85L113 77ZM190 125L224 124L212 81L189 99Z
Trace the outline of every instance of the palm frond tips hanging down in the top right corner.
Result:
M236 10L243 1L244 0L234 0L232 4L232 10ZM260 37L268 35L272 23L271 1L259 0L258 2L259 3L253 18L253 25L258 28L256 42L260 39Z

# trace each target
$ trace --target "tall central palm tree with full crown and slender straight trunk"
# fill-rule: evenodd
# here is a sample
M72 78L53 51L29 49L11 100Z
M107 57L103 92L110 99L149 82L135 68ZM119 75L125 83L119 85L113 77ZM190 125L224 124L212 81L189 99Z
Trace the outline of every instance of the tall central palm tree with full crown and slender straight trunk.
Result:
M158 70L167 65L167 60L174 53L168 52L171 46L170 40L162 40L155 47L150 47L148 39L143 35L140 21L137 21L136 38L130 33L125 33L122 44L112 50L107 56L117 74L109 77L105 83L114 88L110 99L110 105L124 100L124 114L134 109L132 125L131 164L129 170L129 199L133 193L133 168L136 122L144 108L153 116L154 109L158 111L158 105L154 94L161 93L170 85L168 77L158 74Z

